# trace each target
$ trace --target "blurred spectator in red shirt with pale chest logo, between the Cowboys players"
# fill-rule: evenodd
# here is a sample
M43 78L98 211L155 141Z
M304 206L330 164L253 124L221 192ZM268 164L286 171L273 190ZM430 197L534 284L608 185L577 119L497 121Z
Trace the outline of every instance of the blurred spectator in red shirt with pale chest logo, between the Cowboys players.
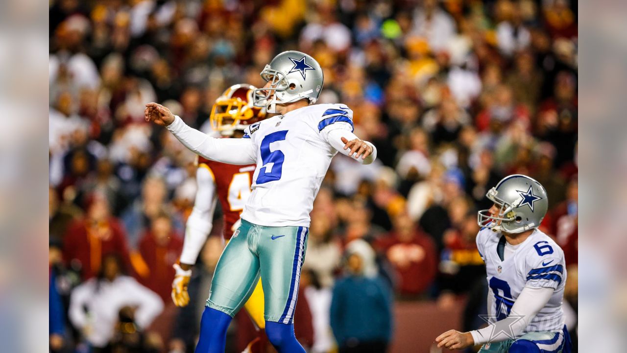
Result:
M419 231L407 212L399 213L394 229L377 241L398 277L399 295L414 298L424 293L436 273L436 249L433 240Z

